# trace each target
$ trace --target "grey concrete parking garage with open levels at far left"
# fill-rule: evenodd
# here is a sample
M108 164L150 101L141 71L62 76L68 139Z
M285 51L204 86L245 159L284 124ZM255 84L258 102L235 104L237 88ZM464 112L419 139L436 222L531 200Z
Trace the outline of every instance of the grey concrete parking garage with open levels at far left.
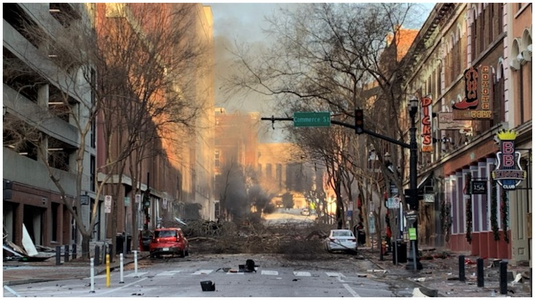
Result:
M21 245L23 227L37 245L80 241L49 174L55 174L74 207L81 200L78 213L84 224L90 221L86 204L96 197L96 133L92 127L83 143L81 133L95 95L85 92L88 82L69 64L62 64L66 53L51 53L57 44L49 47L62 43L51 34L62 27L91 26L87 8L85 3L3 4L3 228L16 245ZM99 229L95 237L103 233Z

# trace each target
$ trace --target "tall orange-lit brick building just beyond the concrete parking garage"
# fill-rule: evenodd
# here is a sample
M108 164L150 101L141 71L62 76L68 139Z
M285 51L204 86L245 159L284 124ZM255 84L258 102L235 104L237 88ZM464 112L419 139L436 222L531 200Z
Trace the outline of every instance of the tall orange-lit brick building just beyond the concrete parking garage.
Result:
M185 215L184 210L186 204L201 204L200 217L214 219L214 193L213 181L211 180L214 130L212 126L214 118L212 11L210 7L199 3L151 3L150 7L143 5L147 4L98 3L97 23L102 28L97 29L97 32L105 35L107 31L115 33L116 31L121 32L121 30L125 32L127 30L135 32L143 30L146 33L160 35L160 40L156 40L159 44L152 44L152 46L166 51L166 53L162 53L162 57L169 57L169 53L175 53L177 55L175 60L188 60L185 58L187 55L181 53L188 53L188 51L195 53L195 50L175 49L174 47L192 46L201 49L202 56L191 55L189 59L193 62L192 59L203 57L202 62L198 61L198 68L184 68L183 72L187 70L190 74L177 76L176 79L178 81L187 78L184 79L188 83L187 92L181 89L181 86L186 85L186 83L176 82L175 87L173 87L176 90L173 92L182 94L182 97L188 97L188 101L196 103L192 107L198 109L198 113L195 114L195 120L185 121L190 122L188 125L195 128L191 131L185 130L176 121L162 121L162 118L165 118L164 114L153 115L154 124L151 126L158 133L149 133L149 137L155 138L155 141L145 144L142 151L132 151L130 155L134 157L132 161L134 166L128 160L122 170L110 170L112 174L108 174L110 176L107 181L108 193L113 191L114 185L119 182L121 185L116 200L117 207L120 209L114 213L118 221L116 228L108 230L108 237L116 232L125 231L134 232L133 235L138 236L136 234L138 230L143 228L151 230L165 226L169 222L175 221L175 217L188 219L189 217ZM161 15L160 21L164 24L153 23L153 15L158 13ZM181 18L185 21L174 24L173 22L176 20L173 16L176 14L184 14ZM169 28L169 32L166 31L166 28ZM177 28L184 32L177 32ZM149 38L142 42L151 46ZM165 62L165 58L161 59L158 64L161 64L162 68L167 68L169 72L178 72L179 65L173 59L169 62L173 66ZM143 75L148 76L148 80L154 80L150 78L153 76L150 73L143 73ZM172 76L172 74L169 75ZM152 96L145 101L147 103L170 101L176 94L167 94L169 91L166 91L166 88L169 88L169 85L160 87L161 91L153 92ZM162 105L162 107L164 106ZM182 109L186 111L188 108L184 106ZM100 123L99 129L99 133L101 133L99 135L100 144L105 144L102 123ZM121 142L127 140L124 137L128 136L129 132L126 129L120 135L123 139L116 135L110 141L113 147L112 152L107 152L106 148L101 148L99 165L105 165L108 153L115 156L121 153ZM122 174L120 180L119 174ZM105 176L104 173L99 174L99 180L104 180ZM142 205L134 202L136 198L142 199ZM132 209L122 209L127 202L126 200L131 202ZM133 220L133 213L136 214L134 218L136 224L132 224L130 221Z

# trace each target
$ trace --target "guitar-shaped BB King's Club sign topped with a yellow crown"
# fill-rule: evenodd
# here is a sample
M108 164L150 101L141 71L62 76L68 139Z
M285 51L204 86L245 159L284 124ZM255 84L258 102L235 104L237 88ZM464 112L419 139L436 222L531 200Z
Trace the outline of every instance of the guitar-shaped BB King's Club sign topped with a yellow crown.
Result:
M493 179L503 189L515 189L524 180L526 172L520 166L520 152L514 151L514 139L517 133L502 130L497 133L500 140L500 151L496 153L498 164L492 172Z

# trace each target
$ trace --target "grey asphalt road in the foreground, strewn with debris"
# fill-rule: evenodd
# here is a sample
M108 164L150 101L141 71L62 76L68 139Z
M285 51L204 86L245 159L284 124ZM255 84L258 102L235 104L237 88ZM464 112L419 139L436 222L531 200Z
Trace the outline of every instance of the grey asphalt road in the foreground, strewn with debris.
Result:
M239 264L252 258L256 273L238 271ZM349 262L349 264L348 264ZM395 297L388 284L363 277L363 261L294 262L277 256L209 255L189 258L147 260L129 265L121 273L95 277L95 292L90 279L69 279L14 286L22 297ZM360 270L360 271L359 271ZM215 291L203 291L201 282L211 281ZM4 292L4 297L13 297Z

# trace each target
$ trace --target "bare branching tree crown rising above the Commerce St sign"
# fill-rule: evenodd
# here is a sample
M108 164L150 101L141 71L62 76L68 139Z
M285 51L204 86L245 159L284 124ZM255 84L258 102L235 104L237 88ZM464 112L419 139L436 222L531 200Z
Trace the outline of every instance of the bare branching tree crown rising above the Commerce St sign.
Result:
M306 107L308 111L332 111L341 120L353 120L354 109L360 107L365 111L366 128L403 139L405 120L399 119L399 107L406 98L401 86L406 74L401 72L397 44L401 40L399 29L413 9L408 3L314 3L281 10L268 20L273 46L259 54L236 45L234 55L241 68L228 78L228 90L271 95L287 115L296 107ZM315 139L308 148L325 140ZM382 176L367 174L366 159L362 159L369 150L365 145L372 144L381 152L378 157L383 172L383 154L388 148L375 137L349 137L349 144L356 144L351 147L355 152L338 153L352 166L360 186L368 186L364 190L369 189L366 194L371 201L373 195L382 195L380 189L384 187L377 184ZM402 149L390 148L390 152L393 161L406 165ZM403 176L397 175L386 176L401 191Z

